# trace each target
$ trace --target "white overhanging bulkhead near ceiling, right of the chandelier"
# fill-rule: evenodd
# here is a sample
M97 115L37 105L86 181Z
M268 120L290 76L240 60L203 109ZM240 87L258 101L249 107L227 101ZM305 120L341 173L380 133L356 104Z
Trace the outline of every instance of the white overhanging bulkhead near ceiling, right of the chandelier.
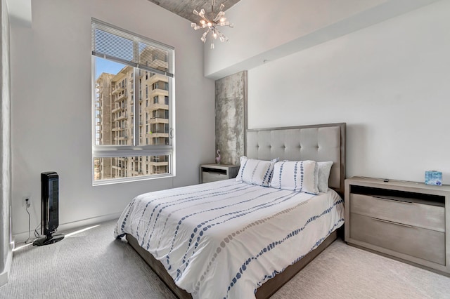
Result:
M235 27L221 29L229 42L205 51L205 76L220 79L251 69L435 1L239 1L226 11Z

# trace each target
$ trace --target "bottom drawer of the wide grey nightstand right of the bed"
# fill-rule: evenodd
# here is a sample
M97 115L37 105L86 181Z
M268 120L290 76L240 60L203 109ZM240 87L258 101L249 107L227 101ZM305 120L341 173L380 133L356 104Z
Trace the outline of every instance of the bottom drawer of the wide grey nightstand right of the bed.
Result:
M445 265L445 234L435 230L350 214L350 237Z

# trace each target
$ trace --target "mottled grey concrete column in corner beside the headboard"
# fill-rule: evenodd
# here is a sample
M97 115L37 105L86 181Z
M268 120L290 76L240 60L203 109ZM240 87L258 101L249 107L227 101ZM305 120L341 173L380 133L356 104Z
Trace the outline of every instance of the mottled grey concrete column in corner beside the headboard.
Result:
M247 71L215 81L216 151L221 163L239 164L245 154Z

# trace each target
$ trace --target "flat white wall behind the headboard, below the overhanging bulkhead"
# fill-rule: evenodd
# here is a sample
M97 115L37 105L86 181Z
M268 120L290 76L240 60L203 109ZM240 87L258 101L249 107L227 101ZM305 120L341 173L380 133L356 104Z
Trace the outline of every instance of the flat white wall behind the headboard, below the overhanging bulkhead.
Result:
M250 69L249 128L346 122L347 177L450 184L449 13L438 1Z

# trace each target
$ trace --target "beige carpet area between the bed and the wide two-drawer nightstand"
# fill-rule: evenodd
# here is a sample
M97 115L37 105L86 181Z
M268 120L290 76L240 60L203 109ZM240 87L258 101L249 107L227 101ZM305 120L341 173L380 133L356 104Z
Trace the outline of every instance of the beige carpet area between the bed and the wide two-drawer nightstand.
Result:
M272 298L450 298L450 277L338 239Z

